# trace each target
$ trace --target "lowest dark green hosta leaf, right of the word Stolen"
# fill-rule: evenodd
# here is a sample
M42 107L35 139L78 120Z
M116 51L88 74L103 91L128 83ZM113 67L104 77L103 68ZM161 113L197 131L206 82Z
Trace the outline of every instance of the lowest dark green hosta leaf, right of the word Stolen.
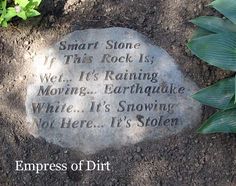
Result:
M219 111L198 129L203 134L209 133L236 133L236 109Z

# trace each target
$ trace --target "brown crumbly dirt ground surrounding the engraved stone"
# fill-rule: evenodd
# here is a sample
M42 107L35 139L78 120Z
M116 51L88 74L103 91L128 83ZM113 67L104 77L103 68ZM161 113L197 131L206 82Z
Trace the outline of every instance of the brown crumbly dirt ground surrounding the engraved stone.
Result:
M42 16L0 28L0 185L236 185L236 136L196 134L196 127L158 141L91 156L29 135L25 96L29 64L38 46L86 28L127 27L164 48L199 87L228 77L186 48L194 27L188 20L216 14L211 0L45 0ZM203 119L214 110L204 107ZM200 124L199 124L200 125ZM79 162L99 159L110 172L16 172L15 161Z

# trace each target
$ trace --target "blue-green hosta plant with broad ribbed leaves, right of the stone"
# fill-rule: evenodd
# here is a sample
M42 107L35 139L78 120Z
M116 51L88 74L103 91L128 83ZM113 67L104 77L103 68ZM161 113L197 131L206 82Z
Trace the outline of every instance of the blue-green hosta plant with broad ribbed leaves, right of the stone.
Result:
M223 18L202 16L191 20L198 26L188 48L210 65L236 71L236 0L215 0L210 6ZM198 129L200 133L236 133L235 77L227 78L193 95L202 104L218 109Z

